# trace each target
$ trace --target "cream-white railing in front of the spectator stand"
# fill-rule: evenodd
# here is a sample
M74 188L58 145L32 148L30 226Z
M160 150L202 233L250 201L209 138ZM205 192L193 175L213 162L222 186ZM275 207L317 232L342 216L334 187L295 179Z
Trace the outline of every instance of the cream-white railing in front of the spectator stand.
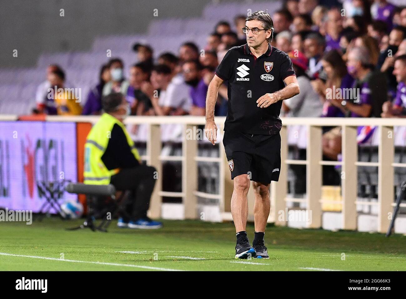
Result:
M16 120L17 116L0 115L0 120ZM69 121L69 122L96 122L98 116L47 116L47 121ZM225 117L215 118L218 132L224 127ZM378 231L386 232L389 227L389 214L393 209L394 198L394 175L393 167L406 167L406 163L394 163L394 137L393 127L406 127L405 118L283 118L281 129L281 173L279 182L271 184L271 213L269 222L276 225L286 225L286 221L278 219L278 212L285 211L288 201L305 202L306 209L311 211L312 221L308 227L318 228L322 226L322 165L341 165L341 203L342 203L342 228L357 228L356 204L357 202L357 166L378 166L378 201L368 203L378 205ZM158 174L162 173L162 161L176 159L182 162L182 191L163 192L162 177L158 175L155 190L151 198L149 215L158 218L161 215L162 196L182 197L186 219L197 219L197 197L207 199L218 199L223 219L231 219L230 202L233 192L233 181L225 156L224 146L219 143L219 157L198 157L196 138L187 139L186 132L196 132L196 125L205 124L203 116L130 116L125 120L126 124L147 124L149 135L147 138L147 153L143 159L147 164L154 166ZM182 155L176 157L161 156L161 124L182 124L184 134L182 138ZM287 125L307 126L307 158L306 160L287 159ZM322 127L342 127L342 161L328 162L322 160ZM377 126L379 134L378 162L358 162L357 153L357 127ZM191 131L189 131L191 130ZM204 135L204 133L203 133ZM219 194L209 194L197 191L197 162L207 161L219 163ZM292 199L287 197L287 164L306 165L307 173L307 194L305 199ZM285 166L285 167L284 167ZM406 179L406 178L405 178ZM253 211L253 190L248 192L249 211ZM340 203L335 202L335 203ZM402 206L405 206L402 204ZM248 216L249 219L253 215Z

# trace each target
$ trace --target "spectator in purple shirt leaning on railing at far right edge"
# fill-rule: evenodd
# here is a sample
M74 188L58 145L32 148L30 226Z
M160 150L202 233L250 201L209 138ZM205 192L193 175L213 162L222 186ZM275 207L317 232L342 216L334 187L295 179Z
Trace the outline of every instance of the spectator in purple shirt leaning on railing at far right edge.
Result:
M393 104L390 101L383 104L381 116L406 118L406 55L396 57L393 74L398 82L396 97Z

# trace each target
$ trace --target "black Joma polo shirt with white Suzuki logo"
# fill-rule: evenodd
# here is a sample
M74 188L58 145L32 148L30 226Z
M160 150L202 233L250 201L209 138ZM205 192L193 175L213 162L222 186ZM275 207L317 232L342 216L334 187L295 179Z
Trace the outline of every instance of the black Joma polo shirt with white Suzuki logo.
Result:
M258 58L247 44L233 47L218 65L216 75L228 80L228 113L224 130L261 135L281 130L282 101L267 108L257 107L256 102L264 94L283 89L286 77L296 76L289 55L270 44L266 53Z

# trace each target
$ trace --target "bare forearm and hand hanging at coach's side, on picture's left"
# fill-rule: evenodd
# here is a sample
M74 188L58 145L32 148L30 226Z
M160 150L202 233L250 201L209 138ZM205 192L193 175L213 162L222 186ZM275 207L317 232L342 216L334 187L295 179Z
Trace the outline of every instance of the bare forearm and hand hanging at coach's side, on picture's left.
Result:
M218 96L218 89L220 88L223 80L217 75L214 75L210 81L209 88L207 89L206 96L206 126L205 134L207 139L214 145L217 140L217 126L214 122L214 106Z

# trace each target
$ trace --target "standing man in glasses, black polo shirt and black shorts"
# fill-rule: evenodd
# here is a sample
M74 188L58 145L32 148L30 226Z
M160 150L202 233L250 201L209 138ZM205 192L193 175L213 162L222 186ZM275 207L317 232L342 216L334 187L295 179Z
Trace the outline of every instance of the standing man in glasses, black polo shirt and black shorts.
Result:
M267 12L252 13L242 30L247 44L227 52L209 85L205 134L214 145L214 105L220 85L228 81L223 143L234 180L231 214L237 232L235 258L269 258L263 237L270 212L269 185L279 180L281 169L279 113L282 100L299 94L299 85L289 56L270 45L274 28ZM246 233L250 180L255 193L253 247Z

